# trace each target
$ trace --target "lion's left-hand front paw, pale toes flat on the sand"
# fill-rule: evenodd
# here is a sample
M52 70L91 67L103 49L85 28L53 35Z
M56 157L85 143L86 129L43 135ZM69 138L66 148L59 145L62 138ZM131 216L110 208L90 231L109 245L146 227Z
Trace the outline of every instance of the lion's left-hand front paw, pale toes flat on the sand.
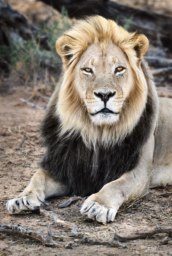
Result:
M37 210L42 203L45 204L44 202L39 201L37 197L24 196L9 200L6 207L9 213L20 213L26 210Z

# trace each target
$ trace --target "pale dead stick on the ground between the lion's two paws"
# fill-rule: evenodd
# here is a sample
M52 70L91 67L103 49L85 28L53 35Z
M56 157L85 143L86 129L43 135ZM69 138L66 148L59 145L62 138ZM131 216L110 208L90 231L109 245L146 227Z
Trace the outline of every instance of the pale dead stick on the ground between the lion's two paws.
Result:
M59 216L56 213L52 212L52 211L47 211L47 210L44 210L44 209L40 209L40 213L43 214L44 216L48 216L48 217L52 218L54 220L54 222L57 223L58 225L71 229L71 235L72 236L83 237L83 234L78 232L78 227L74 223L69 222L69 221L61 220L59 218Z

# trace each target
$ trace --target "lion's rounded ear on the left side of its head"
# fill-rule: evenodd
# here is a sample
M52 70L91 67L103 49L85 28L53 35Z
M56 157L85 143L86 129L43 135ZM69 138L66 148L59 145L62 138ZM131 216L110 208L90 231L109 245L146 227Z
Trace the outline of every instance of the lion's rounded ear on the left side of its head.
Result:
M70 63L70 60L73 57L73 52L71 48L72 41L73 39L67 35L61 36L56 41L56 51L62 59L65 66L67 66Z

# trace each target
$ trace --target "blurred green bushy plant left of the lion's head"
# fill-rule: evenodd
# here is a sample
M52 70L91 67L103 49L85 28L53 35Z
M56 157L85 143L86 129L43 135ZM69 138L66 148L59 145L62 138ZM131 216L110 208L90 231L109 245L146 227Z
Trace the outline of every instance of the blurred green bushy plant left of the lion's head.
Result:
M37 38L24 40L9 31L10 46L1 47L0 56L4 61L9 59L11 75L18 74L26 85L42 87L43 91L47 87L53 90L54 79L57 80L62 65L61 59L56 53L56 40L72 23L72 21L69 22L64 8L61 16L61 19L53 21L51 27L47 25L41 27L48 36L50 51L40 45L39 35ZM54 77L51 78L51 76Z

